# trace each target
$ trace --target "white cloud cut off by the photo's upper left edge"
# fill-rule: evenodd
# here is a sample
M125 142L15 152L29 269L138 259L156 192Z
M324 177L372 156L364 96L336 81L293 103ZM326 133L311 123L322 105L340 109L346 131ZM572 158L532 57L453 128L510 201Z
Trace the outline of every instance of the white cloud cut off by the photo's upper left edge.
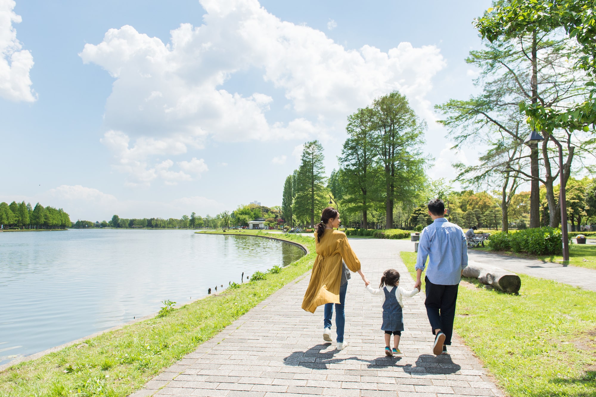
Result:
M29 71L33 55L17 39L13 23L22 18L14 13L13 0L0 0L0 97L11 101L34 102L38 95L31 89Z

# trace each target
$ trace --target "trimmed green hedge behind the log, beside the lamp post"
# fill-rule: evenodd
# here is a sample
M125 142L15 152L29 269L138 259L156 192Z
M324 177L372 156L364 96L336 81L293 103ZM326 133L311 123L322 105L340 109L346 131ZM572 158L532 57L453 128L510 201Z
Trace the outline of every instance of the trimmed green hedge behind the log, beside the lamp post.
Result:
M489 247L495 251L511 250L534 255L556 255L563 252L561 229L551 227L524 229L515 233L496 232L491 234L489 241Z

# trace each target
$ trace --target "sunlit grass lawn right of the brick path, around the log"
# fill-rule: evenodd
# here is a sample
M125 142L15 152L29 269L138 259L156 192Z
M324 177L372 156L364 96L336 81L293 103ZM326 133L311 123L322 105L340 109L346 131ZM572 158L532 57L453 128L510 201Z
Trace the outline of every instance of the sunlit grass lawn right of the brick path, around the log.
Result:
M400 254L415 277L416 254ZM520 278L519 295L464 278L455 331L513 397L596 396L596 293Z

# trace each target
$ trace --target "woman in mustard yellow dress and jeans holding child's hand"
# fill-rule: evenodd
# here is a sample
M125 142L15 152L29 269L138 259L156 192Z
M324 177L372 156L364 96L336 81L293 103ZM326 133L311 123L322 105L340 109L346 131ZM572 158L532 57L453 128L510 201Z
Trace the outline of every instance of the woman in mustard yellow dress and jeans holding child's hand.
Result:
M327 207L316 225L316 259L312 266L311 281L302 300L302 308L314 313L317 306L325 305L323 339L331 342L331 317L336 308L337 350L347 346L343 339L345 325L344 302L350 271L358 272L364 284L368 280L360 269L360 261L347 242L346 234L335 230L339 227L339 213Z

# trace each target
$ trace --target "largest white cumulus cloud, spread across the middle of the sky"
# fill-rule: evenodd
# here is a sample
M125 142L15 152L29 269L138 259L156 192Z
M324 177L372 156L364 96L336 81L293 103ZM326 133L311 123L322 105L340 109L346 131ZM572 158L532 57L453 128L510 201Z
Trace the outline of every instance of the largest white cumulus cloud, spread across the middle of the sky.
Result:
M257 0L200 2L207 12L203 24L181 24L167 43L127 25L108 30L79 54L115 79L102 142L131 184L157 178L160 156L200 148L207 139L343 134L347 114L393 90L407 95L422 117L432 117L425 95L445 66L436 46L347 49L320 30L280 20ZM224 88L246 70L262 73L283 97ZM287 103L283 120L268 117L276 100Z

